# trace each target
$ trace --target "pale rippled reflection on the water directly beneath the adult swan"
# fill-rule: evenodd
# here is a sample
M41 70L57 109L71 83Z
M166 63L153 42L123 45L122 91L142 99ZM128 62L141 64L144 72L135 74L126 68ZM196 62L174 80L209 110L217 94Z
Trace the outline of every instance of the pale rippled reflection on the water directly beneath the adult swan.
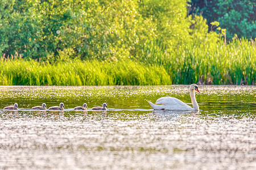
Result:
M151 111L156 116L157 121L172 120L180 118L182 115L190 115L192 117L199 117L199 111Z

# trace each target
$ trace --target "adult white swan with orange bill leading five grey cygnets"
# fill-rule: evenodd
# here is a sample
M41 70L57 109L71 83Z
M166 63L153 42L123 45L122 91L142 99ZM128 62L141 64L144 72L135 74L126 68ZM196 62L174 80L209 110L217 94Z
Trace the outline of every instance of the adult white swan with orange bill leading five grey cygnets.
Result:
M163 110L163 111L164 110L167 110L167 111L196 110L196 111L199 111L199 105L196 102L195 90L197 92L199 92L198 86L196 84L191 84L189 87L189 94L191 97L193 108L190 107L189 105L183 103L183 101L176 99L175 97L161 97L158 100L156 100L156 104L153 104L151 101L148 101L148 103L155 110ZM161 105L158 105L158 104L161 104Z

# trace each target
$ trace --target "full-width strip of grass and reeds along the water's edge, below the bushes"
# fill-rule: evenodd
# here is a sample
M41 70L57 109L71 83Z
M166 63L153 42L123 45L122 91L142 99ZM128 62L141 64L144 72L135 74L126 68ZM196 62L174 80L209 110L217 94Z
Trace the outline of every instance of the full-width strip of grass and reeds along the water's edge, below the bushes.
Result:
M23 59L0 58L0 85L93 86L167 84L249 84L256 82L254 42L246 39L216 46L185 46L171 59ZM210 50L211 49L211 50ZM154 59L154 58L148 58Z

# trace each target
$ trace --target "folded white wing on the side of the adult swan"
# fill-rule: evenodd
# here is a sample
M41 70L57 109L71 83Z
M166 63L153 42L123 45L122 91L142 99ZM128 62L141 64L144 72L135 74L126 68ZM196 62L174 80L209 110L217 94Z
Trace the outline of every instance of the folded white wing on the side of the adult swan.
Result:
M164 104L167 109L170 110L191 110L193 109L189 105L185 104L183 101L176 99L175 97L161 97L156 100L156 104Z

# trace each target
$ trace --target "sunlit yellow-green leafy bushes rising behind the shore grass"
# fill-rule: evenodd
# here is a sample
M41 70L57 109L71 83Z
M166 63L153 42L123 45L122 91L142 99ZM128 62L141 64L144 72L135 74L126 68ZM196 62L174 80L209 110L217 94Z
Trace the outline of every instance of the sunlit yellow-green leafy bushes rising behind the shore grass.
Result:
M189 29L194 20L184 0L1 1L0 53L6 55L150 59L207 33Z

